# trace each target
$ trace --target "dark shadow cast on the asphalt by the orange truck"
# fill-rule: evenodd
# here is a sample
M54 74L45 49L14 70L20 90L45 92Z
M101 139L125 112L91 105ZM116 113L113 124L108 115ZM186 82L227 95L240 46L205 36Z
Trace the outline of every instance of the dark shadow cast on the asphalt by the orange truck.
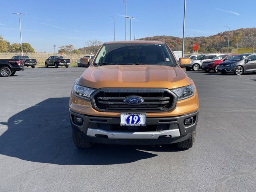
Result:
M118 146L96 144L78 150L71 137L69 98L49 98L0 122L8 130L0 136L0 154L51 164L124 164L152 158L152 152L177 151L168 146ZM146 150L141 151L141 150Z

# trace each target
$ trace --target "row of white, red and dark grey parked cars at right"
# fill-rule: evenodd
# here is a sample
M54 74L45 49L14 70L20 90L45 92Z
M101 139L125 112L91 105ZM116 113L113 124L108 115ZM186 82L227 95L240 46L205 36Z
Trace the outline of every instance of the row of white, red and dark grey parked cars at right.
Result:
M212 58L213 56L216 56ZM242 75L247 72L256 72L256 54L201 54L191 60L191 67L186 70L197 71L200 68L205 72L220 72L221 74L234 73Z

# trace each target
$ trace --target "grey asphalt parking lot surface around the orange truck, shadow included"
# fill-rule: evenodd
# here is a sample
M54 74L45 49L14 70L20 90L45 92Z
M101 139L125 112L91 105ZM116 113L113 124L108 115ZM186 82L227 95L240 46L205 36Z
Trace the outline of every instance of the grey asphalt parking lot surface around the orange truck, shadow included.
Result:
M255 191L256 74L187 72L197 86L196 143L72 143L68 100L85 68L0 77L0 191Z

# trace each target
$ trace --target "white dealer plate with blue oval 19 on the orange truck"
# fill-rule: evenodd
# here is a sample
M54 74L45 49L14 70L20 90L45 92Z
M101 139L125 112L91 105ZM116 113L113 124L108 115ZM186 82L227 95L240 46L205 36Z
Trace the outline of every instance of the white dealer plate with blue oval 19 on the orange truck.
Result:
M146 126L146 113L120 113L121 126Z

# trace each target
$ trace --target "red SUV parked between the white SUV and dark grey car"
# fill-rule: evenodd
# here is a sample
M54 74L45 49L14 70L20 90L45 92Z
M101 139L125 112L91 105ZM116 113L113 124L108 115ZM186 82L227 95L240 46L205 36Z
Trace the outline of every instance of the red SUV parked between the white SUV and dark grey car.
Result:
M218 72L218 65L226 60L230 60L234 56L238 54L226 54L226 55L219 55L214 57L212 60L207 60L202 63L202 70L205 72L210 72L211 70L214 70L214 72Z

